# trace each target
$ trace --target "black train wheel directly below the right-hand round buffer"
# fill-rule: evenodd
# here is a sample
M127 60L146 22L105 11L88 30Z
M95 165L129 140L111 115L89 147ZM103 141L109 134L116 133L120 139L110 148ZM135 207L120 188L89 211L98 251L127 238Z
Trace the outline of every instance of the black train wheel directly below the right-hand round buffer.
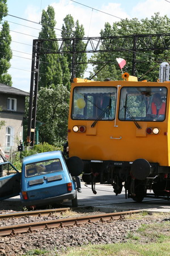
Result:
M134 180L133 184L133 193L131 193L131 198L138 202L141 203L146 196L146 185L143 184L143 181L141 180Z

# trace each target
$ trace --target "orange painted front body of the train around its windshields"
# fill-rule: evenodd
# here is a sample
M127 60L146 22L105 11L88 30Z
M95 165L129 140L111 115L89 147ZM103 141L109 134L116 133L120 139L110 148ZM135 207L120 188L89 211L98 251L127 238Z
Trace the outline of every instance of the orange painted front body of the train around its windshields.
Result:
M143 158L148 162L158 163L159 166L170 166L170 121L169 117L169 83L160 82L138 82L138 81L105 81L91 82L75 80L71 84L70 111L68 124L69 157L78 156L83 160L113 160L133 162L135 159ZM71 118L73 106L73 90L75 87L115 87L117 93L117 108L115 118L111 121L98 120L91 127L93 120L78 120ZM167 88L167 104L165 119L158 121L138 121L141 129L130 121L122 121L118 118L120 109L120 96L122 88L126 87L164 87ZM84 133L74 132L74 126L85 126ZM147 134L147 127L157 127L159 134Z

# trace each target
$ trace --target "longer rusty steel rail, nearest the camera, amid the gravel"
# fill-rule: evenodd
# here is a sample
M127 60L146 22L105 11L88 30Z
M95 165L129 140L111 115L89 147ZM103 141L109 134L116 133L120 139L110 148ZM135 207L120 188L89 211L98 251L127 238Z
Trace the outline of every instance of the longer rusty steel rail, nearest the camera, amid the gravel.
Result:
M34 232L35 230L41 229L50 229L50 228L63 228L64 226L74 226L80 225L87 222L96 222L96 221L109 221L109 220L121 220L123 216L127 214L134 214L143 212L143 210L130 210L126 212L114 212L114 213L105 213L73 218L61 218L58 220L49 220L49 221L40 221L40 222L31 222L27 224L11 225L11 226L2 226L0 227L0 236L10 236L16 235L18 233L27 233Z

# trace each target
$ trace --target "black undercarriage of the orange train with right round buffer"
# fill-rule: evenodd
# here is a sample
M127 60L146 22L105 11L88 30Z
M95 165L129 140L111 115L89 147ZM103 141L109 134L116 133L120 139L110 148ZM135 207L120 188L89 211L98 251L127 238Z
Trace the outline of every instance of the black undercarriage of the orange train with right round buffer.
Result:
M114 162L101 160L83 160L84 172L82 180L91 184L96 194L95 184L111 184L116 195L125 188L125 197L141 202L148 197L148 189L153 192L150 196L169 200L170 196L170 167L149 163L145 159L134 162Z

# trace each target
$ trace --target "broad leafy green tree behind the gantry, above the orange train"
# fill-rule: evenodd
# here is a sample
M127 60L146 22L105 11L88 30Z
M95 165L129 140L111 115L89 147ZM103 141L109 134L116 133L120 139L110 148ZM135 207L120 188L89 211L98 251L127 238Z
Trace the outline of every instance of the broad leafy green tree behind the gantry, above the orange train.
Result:
M113 26L109 23L105 23L104 30L101 30L101 36L118 36L118 35L134 35L134 34L162 34L167 33L170 29L170 19L165 16L160 16L159 13L155 13L151 16L151 19L141 19L137 18L133 19L124 19L120 22L113 23ZM123 39L122 39L123 40ZM153 39L154 40L154 39ZM166 39L165 39L166 40ZM167 39L168 40L168 39ZM104 40L105 47L107 47L107 40ZM121 43L121 40L120 40ZM160 43L160 48L162 44ZM102 72L103 74L107 74L107 77L111 77L113 80L117 80L121 78L120 69L116 63L116 57L122 57L126 60L126 66L124 71L129 72L132 75L132 60L133 60L133 52L124 51L124 52L109 52L109 53L96 53L92 56L93 61L104 62L108 61L107 66L102 69L101 72L97 74L95 77L96 80L101 80ZM136 76L141 77L147 71L152 69L151 72L148 72L143 79L147 79L148 81L156 81L159 77L159 64L163 61L168 61L170 57L170 51L168 50L157 50L157 51L145 51L145 52L137 52L137 64L136 64ZM101 66L104 64L96 64L95 72L98 72ZM113 66L112 68L109 68ZM114 72L113 72L114 70ZM110 72L111 71L111 72ZM103 79L105 76L103 77Z

